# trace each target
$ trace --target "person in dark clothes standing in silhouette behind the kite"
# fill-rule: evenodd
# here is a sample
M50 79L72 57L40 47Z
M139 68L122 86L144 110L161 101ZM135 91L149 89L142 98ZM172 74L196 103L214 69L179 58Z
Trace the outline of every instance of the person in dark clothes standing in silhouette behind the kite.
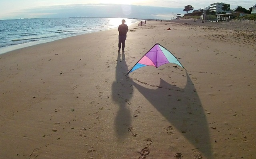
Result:
M125 23L125 20L122 20L122 24L118 26L118 52L120 52L121 49L121 43L122 43L122 51L124 53L124 47L125 47L125 40L126 40L126 33L128 32L128 26Z

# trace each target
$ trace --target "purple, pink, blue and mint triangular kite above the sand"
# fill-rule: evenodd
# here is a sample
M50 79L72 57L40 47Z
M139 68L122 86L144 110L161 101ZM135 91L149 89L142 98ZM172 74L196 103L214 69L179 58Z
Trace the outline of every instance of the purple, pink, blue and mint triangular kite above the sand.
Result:
M144 56L142 56L142 58L126 75L144 66L154 66L158 68L166 63L175 63L176 65L179 65L185 69L181 65L180 61L178 61L178 59L176 59L176 57L174 57L170 51L168 51L159 43L156 43Z

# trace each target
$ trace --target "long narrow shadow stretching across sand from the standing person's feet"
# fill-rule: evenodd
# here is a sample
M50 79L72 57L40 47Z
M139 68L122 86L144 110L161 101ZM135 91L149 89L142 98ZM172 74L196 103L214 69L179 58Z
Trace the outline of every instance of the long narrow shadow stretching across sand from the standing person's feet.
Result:
M131 125L131 112L127 107L132 98L133 86L132 79L126 78L128 66L125 61L125 55L118 53L116 62L116 80L112 83L112 99L119 105L115 118L115 131L119 138L128 133L128 127Z

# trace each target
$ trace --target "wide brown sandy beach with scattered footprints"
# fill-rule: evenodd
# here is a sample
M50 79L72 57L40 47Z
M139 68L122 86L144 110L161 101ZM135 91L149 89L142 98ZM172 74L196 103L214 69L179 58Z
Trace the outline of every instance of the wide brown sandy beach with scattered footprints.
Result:
M0 55L0 158L253 159L255 26L148 20L125 53L110 29ZM155 43L186 70L125 76Z

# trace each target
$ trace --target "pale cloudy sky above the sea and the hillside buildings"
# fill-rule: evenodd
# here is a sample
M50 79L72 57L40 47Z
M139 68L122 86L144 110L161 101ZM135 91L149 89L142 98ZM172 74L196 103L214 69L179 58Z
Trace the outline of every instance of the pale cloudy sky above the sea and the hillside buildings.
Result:
M198 10L216 2L230 4L231 9L256 4L255 0L0 0L0 20L73 16L168 20L184 14L187 5Z

